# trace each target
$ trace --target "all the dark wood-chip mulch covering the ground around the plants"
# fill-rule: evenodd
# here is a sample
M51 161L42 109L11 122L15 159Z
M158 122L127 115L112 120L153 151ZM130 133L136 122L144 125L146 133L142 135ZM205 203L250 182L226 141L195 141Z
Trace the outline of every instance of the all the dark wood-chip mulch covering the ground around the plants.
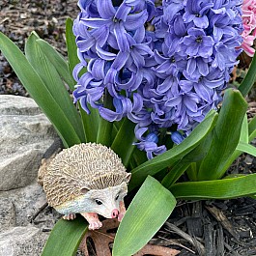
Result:
M65 21L78 14L74 0L0 0L0 31L21 49L32 31L67 55ZM250 59L242 62L244 71ZM0 94L28 97L14 71L0 55ZM254 98L254 97L253 97ZM256 104L249 100L248 116ZM256 159L242 155L232 165L232 173L255 173ZM180 201L174 213L156 234L153 243L181 250L180 255L256 255L256 201L233 200ZM92 254L93 255L93 254Z

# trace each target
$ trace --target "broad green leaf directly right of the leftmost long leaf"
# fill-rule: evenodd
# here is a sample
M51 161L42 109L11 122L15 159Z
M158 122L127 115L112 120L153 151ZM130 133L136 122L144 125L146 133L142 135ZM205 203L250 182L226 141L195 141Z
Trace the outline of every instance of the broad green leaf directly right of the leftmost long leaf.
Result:
M38 36L35 33L32 33L28 38L27 43L25 44L26 57L34 67L34 70L40 75L43 83L54 100L63 109L64 114L79 136L80 141L84 142L85 137L82 129L82 122L75 106L72 103L71 96L55 67L44 55L37 39ZM52 109L52 111L54 111L54 109Z

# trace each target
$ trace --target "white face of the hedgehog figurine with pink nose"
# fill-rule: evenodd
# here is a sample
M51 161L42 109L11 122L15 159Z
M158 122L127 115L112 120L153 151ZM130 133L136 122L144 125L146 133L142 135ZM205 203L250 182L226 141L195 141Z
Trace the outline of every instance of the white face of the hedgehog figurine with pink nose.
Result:
M104 189L82 188L81 191L85 194L79 198L80 213L99 213L106 218L112 218L120 212L120 202L128 193L128 185L124 182Z

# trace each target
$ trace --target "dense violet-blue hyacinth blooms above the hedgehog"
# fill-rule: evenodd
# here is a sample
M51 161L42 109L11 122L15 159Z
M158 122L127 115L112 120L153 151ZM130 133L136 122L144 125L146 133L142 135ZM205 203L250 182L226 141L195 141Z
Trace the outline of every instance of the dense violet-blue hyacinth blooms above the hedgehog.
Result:
M110 122L128 117L136 124L134 144L149 158L162 154L165 135L181 142L222 100L242 51L241 4L80 0L73 26L80 59L74 101L87 113L88 104L98 108ZM111 108L104 105L106 95Z

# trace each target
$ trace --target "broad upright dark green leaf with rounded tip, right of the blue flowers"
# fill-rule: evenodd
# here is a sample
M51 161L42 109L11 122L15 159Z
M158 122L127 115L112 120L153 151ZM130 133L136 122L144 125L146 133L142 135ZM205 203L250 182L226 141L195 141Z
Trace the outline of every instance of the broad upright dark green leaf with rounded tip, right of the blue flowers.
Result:
M216 180L224 175L223 167L239 143L246 109L247 103L239 91L229 89L225 92L216 126L213 129L212 145L199 168L199 181Z

